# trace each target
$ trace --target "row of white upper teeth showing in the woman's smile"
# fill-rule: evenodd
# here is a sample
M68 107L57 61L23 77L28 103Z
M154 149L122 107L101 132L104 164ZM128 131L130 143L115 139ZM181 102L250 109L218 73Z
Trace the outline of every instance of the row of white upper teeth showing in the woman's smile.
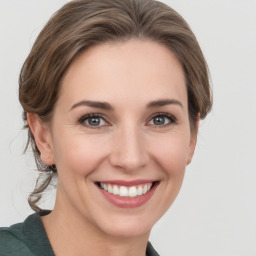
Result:
M146 194L152 187L152 183L137 185L137 186L118 186L106 183L100 183L100 187L110 194L120 197L136 197Z

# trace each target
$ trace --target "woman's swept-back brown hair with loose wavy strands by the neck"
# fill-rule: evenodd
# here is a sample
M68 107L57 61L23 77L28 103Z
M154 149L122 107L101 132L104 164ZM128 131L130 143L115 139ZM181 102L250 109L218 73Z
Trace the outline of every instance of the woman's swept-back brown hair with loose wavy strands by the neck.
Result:
M37 180L29 204L37 202L56 175L46 166L27 124L27 113L42 121L51 119L58 99L60 80L72 61L92 45L130 38L149 39L176 54L186 77L191 130L198 113L204 118L211 109L207 64L196 37L184 19L169 6L154 0L74 0L57 11L43 28L27 57L19 79L19 100L38 170L46 175Z

